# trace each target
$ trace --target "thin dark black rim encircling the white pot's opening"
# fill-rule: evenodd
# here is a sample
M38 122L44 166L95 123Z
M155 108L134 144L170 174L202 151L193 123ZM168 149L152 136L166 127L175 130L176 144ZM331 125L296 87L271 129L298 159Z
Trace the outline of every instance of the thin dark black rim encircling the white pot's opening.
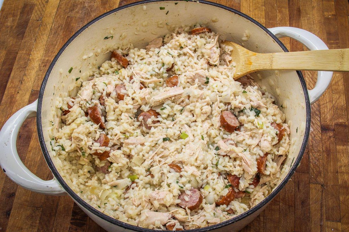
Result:
M86 25L84 25L83 27L81 27L81 29L79 29L76 33L74 33L74 35L72 37L70 37L68 39L68 41L62 46L62 48L58 51L57 55L54 57L53 61L51 62L49 69L47 70L45 77L43 79L42 85L40 87L40 91L39 91L39 97L38 97L38 108L37 108L37 119L36 119L36 123L37 123L37 130L38 130L38 137L39 137L39 142L40 142L40 146L42 149L42 152L44 154L44 158L47 162L47 165L49 166L49 168L51 169L54 177L57 179L57 181L59 182L59 184L63 187L63 189L70 195L70 197L73 198L73 200L77 203L79 203L81 206L83 206L85 209L87 209L88 211L90 211L90 213L104 219L105 221L114 224L114 225L118 225L120 227L123 227L124 229L128 229L128 230L133 230L133 231L138 231L138 232L154 232L154 231L158 231L158 230L154 230L154 229L146 229L140 226L134 226L125 222L121 222L115 218L112 218L110 216L107 216L106 214L103 214L102 212L98 211L97 209L95 209L94 207L92 207L91 205L89 205L86 201L84 201L82 198L80 198L72 189L70 189L70 187L66 184L66 182L64 181L64 179L61 177L61 175L59 174L58 170L55 168L52 159L49 155L49 152L47 151L47 147L45 144L45 139L44 139L44 135L43 135L43 127L41 124L41 113L42 113L42 101L43 101L43 96L44 96L44 91L45 91L45 86L47 83L47 80L49 79L50 73L55 65L55 63L57 62L58 58L60 57L60 55L62 54L62 52L66 49L66 47L70 44L70 42L72 42L82 31L84 31L85 29L87 29L87 27L89 27L90 25L92 25L93 23L97 22L99 19L104 18L107 15L110 15L112 13L115 13L119 10L128 8L128 7L133 7L133 6L137 6L137 5L141 5L144 3L151 3L151 2L161 2L161 1L180 1L180 0L143 0L143 1L138 1L138 2L134 2L134 3L130 3L124 6L120 6L118 8L115 8L113 10L110 10L98 17L96 17L95 19L92 19L92 21L88 22ZM215 6L215 7L220 7L224 10L228 10L231 13L237 14L241 17L244 17L246 19L248 19L249 21L251 21L252 23L256 24L257 26L259 26L261 29L263 29L268 35L270 35L270 37L272 37L275 42L285 51L288 52L288 49L285 47L285 45L278 39L276 38L276 36L270 32L265 26L263 26L262 24L260 24L259 22L257 22L255 19L251 18L250 16L235 10L233 8L221 5L219 3L215 3L215 2L209 2L206 0L195 0L195 2L199 2L201 4L207 4L207 5L211 5L211 6ZM198 229L190 229L190 230L185 230L185 231L191 231L191 232L205 232L205 231L210 231L210 230L215 230L230 224L233 224L237 221L240 221L241 219L255 213L257 210L259 210L260 208L262 208L263 206L265 206L269 201L271 201L277 193L280 192L280 190L286 185L286 183L289 181L289 179L291 178L291 176L295 173L295 170L297 169L300 160L303 157L305 148L306 148L306 144L309 138L309 132L310 132L310 101L309 101L309 95L308 95L308 90L306 88L306 83L304 80L304 77L302 75L302 72L300 71L296 71L300 80L300 83L302 85L302 89L303 89L303 93L304 93L304 97L305 97L305 106L306 106L306 125L305 125L305 134L304 134L304 139L302 142L302 146L300 148L300 151L298 153L298 156L293 164L293 166L290 168L287 176L284 178L284 180L279 184L279 186L277 186L274 191L272 193L270 193L265 199L263 199L261 202L258 203L258 205L254 206L252 209L247 210L246 212L231 218L227 221L215 224L215 225L211 225L211 226L206 226L206 227L202 227L202 228L198 228Z

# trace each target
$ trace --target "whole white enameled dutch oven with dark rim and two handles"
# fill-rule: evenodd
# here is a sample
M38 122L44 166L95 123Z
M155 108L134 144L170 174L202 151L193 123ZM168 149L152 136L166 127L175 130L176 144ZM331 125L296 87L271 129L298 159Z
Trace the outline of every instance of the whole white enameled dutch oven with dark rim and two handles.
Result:
M165 10L160 8L165 7ZM166 12L168 13L166 14ZM6 175L18 185L34 192L70 197L96 223L107 231L144 231L144 229L111 218L84 202L64 181L52 159L49 121L56 117L54 101L62 93L76 94L73 89L75 77L86 75L92 64L98 66L110 58L108 49L115 43L129 41L135 47L144 47L149 41L173 30L174 26L205 24L219 33L223 40L243 44L257 53L287 52L280 42L281 37L291 37L302 42L310 50L328 49L314 34L294 27L267 29L251 17L207 1L147 0L111 10L77 31L54 57L40 88L39 98L16 112L0 132L0 165ZM250 38L243 41L245 31ZM113 39L104 39L113 35ZM99 49L99 50L98 50ZM70 67L74 67L68 73ZM81 70L81 73L79 73ZM288 182L302 159L310 130L310 104L314 103L328 87L332 72L318 72L318 81L312 90L307 90L303 75L299 71L261 71L252 74L262 88L272 93L276 103L283 105L286 121L290 125L290 153L285 162L279 185L257 206L228 221L191 231L238 231L250 223ZM262 78L259 78L262 77ZM74 92L75 91L75 92ZM69 95L71 96L71 95ZM54 179L44 181L32 174L18 157L16 139L18 130L28 117L37 117L40 145Z

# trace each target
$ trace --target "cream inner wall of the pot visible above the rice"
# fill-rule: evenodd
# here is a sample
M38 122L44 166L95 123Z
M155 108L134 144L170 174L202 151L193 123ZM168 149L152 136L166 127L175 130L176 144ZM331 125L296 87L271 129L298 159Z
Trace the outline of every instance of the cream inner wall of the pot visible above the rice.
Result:
M177 3L178 2L178 3ZM177 3L177 4L176 4ZM165 8L164 10L160 8ZM280 45L260 26L250 20L207 3L186 1L149 2L121 8L81 29L70 39L44 80L41 123L46 147L55 167L61 163L50 149L52 119L57 118L54 102L57 97L76 94L76 78L86 80L92 69L110 59L110 50L123 43L145 47L149 41L173 31L174 27L204 24L219 33L220 39L231 40L257 53L283 52ZM244 33L250 38L244 41ZM105 39L105 37L111 37ZM71 73L68 71L73 67ZM295 71L261 71L252 74L261 88L273 94L276 104L286 114L290 125L290 150L279 184L288 174L298 156L306 123L306 102L302 85ZM46 85L45 85L46 81ZM40 106L39 106L40 107ZM60 172L64 178L65 173Z

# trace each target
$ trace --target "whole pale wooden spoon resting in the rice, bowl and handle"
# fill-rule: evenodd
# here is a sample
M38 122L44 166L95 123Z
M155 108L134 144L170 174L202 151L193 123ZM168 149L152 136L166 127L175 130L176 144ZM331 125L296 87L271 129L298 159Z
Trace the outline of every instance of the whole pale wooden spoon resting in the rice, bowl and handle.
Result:
M231 41L222 44L232 47L230 56L236 62L234 80L259 70L349 71L349 48L262 54Z

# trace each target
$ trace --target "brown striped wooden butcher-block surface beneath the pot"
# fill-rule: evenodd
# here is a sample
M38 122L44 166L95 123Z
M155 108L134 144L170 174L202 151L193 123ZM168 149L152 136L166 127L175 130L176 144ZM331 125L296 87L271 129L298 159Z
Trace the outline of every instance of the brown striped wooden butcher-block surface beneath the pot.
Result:
M5 0L0 11L0 125L35 101L53 57L91 19L132 0ZM329 48L349 48L347 0L216 0L266 27L294 26L320 37ZM305 49L282 39L290 51ZM309 88L316 72L304 72ZM349 73L335 72L312 105L311 134L291 181L243 231L349 231ZM35 119L24 122L18 153L37 176L51 179ZM104 231L70 197L18 187L0 173L0 231Z

